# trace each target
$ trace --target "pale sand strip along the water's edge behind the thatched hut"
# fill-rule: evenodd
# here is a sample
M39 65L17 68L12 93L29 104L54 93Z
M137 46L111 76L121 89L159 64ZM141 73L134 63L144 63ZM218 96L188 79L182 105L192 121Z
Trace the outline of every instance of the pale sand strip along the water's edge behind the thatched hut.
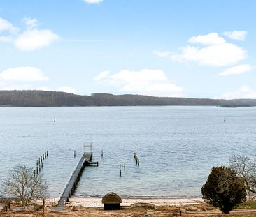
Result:
M121 197L122 198L122 197ZM81 207L104 207L101 203L101 197L77 197L72 196L69 198L69 205L81 206ZM131 204L136 203L147 203L154 204L155 206L178 206L178 205L189 205L189 204L201 204L204 200L201 197L179 197L179 198L122 198L122 203L120 206L128 207Z

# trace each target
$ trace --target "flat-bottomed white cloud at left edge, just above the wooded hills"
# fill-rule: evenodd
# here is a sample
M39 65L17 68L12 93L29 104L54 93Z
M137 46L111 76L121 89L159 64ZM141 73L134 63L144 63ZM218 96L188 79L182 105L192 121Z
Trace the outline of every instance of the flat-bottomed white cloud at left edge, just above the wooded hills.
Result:
M39 68L31 66L8 68L0 73L0 81L2 82L41 82L47 80L48 77L45 77Z

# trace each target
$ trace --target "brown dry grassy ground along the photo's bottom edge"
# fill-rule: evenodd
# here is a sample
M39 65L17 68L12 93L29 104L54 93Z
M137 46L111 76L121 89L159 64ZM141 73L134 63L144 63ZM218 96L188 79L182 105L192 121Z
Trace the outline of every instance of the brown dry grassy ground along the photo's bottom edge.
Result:
M0 211L1 217L43 217L43 211L31 210L10 210L7 213L5 211ZM150 217L171 217L180 216L180 211L182 216L230 216L230 217L245 217L245 216L256 216L255 209L237 209L232 212L232 214L222 214L218 209L213 209L206 204L197 205L186 205L186 206L162 206L157 207L157 209L152 209L152 207L134 207L130 209L121 209L117 211L104 211L102 208L88 208L88 207L67 207L63 211L55 211L49 207L45 210L45 216L47 217L61 217L61 216L90 216L90 217L144 217L148 215Z

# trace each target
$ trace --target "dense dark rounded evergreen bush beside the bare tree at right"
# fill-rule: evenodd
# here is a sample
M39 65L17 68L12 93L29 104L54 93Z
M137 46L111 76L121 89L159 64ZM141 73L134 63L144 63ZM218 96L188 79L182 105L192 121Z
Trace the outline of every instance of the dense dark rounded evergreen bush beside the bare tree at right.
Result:
M213 167L201 193L207 204L220 208L225 214L246 200L246 186L236 171L229 167Z

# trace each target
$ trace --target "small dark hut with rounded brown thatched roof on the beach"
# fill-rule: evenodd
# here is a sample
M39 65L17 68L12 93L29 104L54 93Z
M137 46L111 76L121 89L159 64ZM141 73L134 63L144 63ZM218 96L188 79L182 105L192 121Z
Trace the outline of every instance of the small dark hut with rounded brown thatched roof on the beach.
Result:
M102 198L102 203L104 204L104 210L116 210L120 209L122 199L116 193L110 192Z

